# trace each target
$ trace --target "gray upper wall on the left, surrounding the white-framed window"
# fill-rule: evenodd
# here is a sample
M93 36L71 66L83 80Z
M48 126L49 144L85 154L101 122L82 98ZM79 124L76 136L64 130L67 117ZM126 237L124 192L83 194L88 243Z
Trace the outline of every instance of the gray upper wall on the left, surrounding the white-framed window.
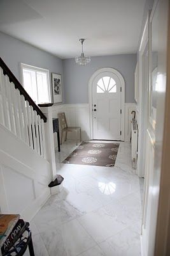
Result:
M0 32L0 56L6 65L10 68L11 72L21 82L20 63L46 68L50 72L62 74L62 60L49 54L48 52L41 51L30 44L26 44L20 40L13 38ZM51 76L51 75L50 75ZM51 77L50 77L51 78ZM62 76L63 78L63 76ZM63 82L63 81L62 81ZM62 83L63 86L63 83ZM64 90L62 88L62 102L64 100Z

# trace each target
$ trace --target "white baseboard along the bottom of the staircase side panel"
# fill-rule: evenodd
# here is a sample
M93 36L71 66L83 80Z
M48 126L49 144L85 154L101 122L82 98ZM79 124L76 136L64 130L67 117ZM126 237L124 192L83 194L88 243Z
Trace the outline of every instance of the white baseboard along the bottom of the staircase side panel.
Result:
M36 213L41 209L41 207L45 204L46 200L50 197L50 189L47 187L43 195L36 198L29 207L24 209L21 217L26 221L31 221L32 218L36 215Z

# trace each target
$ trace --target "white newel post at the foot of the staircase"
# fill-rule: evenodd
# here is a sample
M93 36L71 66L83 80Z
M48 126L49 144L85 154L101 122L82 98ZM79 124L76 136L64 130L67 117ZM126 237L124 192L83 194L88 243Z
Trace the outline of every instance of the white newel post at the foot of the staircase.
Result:
M46 142L46 159L51 165L51 179L56 178L56 164L55 164L55 147L53 142L53 123L52 123L52 107L41 107L43 114L45 114L47 121L45 123L45 142Z

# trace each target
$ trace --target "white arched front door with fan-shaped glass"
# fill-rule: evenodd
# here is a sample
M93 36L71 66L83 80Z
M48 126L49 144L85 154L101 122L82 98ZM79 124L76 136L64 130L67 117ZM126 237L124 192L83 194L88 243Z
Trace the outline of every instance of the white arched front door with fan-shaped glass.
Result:
M92 85L94 140L121 138L121 83L116 74L101 72Z

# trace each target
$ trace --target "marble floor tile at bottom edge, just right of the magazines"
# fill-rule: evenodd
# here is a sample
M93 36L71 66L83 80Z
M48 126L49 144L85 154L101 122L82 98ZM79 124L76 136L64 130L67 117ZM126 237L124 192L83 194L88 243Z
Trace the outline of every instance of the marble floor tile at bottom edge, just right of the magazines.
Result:
M74 256L96 245L77 220L40 233L50 256Z

